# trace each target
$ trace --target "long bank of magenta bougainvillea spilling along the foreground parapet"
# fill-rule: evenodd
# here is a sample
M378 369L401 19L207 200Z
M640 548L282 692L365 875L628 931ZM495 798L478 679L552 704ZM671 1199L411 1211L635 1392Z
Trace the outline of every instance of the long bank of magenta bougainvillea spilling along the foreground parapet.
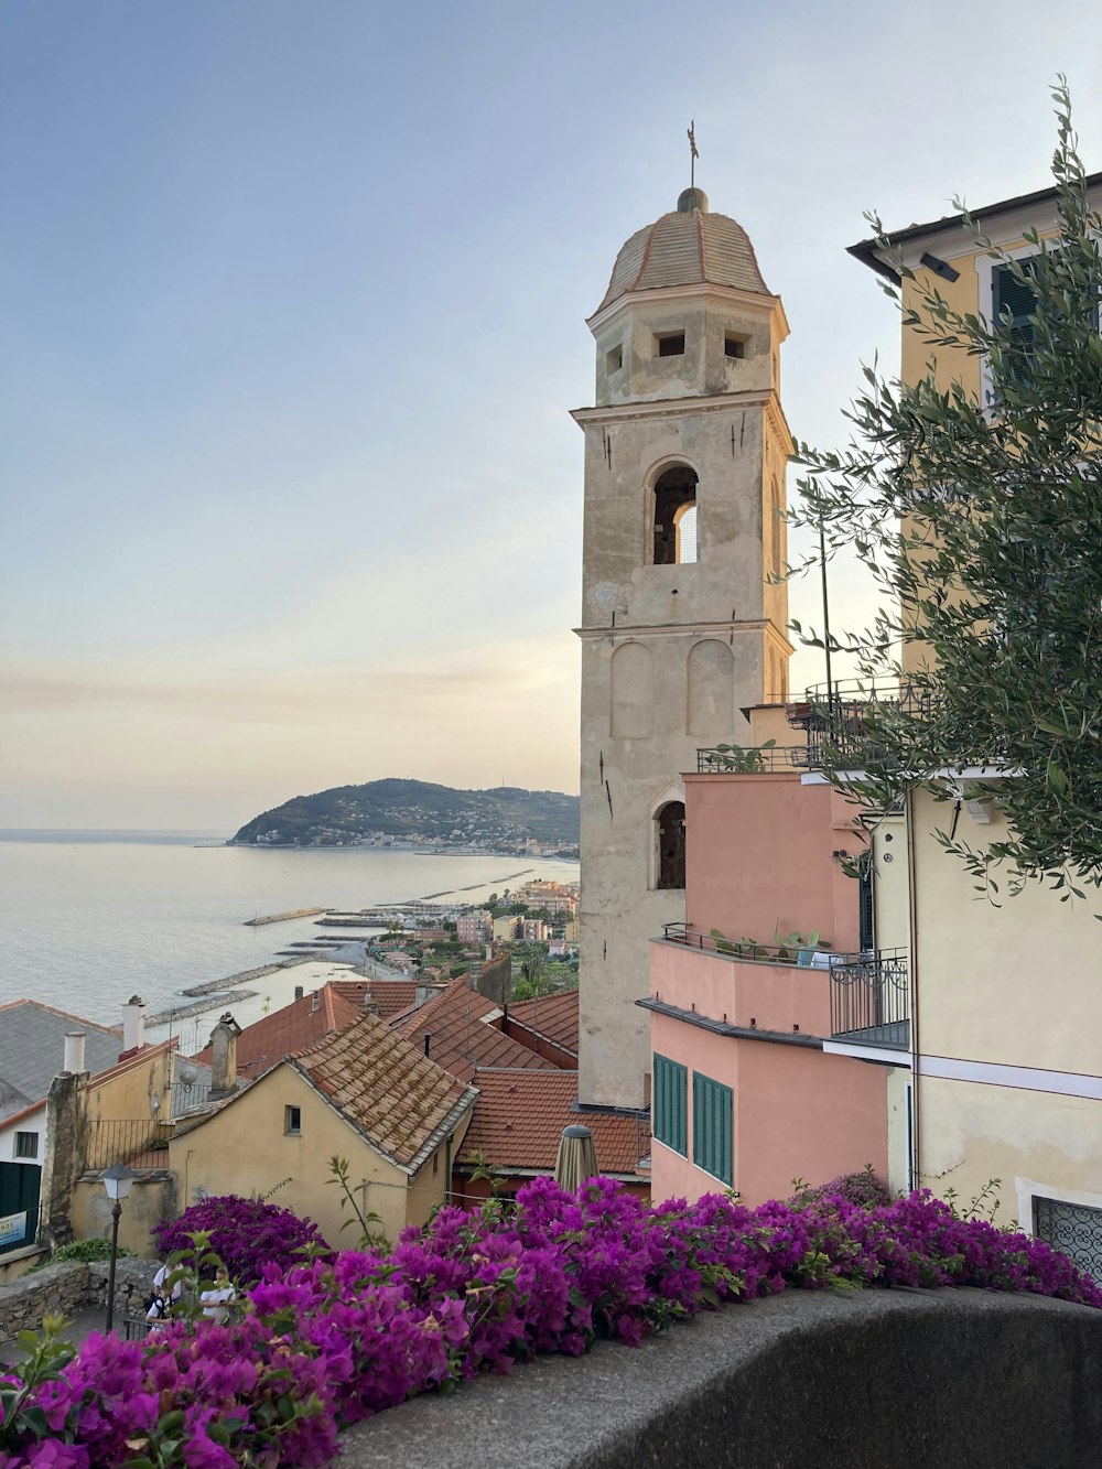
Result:
M929 1193L746 1209L648 1208L608 1180L551 1180L516 1205L438 1212L397 1249L269 1265L231 1325L144 1344L90 1337L53 1378L48 1343L0 1390L0 1469L326 1465L339 1429L414 1393L598 1337L638 1343L682 1316L791 1285L982 1285L1102 1307L1071 1260L961 1219ZM40 1378L46 1376L46 1381Z

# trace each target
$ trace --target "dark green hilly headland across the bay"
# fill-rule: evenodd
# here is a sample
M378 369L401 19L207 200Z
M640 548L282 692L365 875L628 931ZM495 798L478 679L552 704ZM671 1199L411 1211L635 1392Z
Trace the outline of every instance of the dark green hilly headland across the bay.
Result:
M423 780L370 780L294 796L247 821L231 846L431 845L577 852L577 796L560 790L454 790Z

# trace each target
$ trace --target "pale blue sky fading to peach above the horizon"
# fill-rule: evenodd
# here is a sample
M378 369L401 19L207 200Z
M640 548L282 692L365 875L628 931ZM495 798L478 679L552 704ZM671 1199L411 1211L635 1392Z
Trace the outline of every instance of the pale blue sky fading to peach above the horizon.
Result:
M1099 167L1101 57L1073 0L6 0L0 826L576 789L567 410L689 118L827 442L896 355L862 212L1043 187L1058 71Z

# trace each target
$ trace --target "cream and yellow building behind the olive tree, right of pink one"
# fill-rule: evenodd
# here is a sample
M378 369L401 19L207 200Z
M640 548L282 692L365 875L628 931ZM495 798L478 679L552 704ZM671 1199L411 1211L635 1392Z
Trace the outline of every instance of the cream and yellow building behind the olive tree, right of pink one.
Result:
M1102 175L1090 181L1102 206ZM986 235L1015 259L1056 231L1055 194L1045 190L976 212ZM961 311L992 319L1008 307L1027 319L1031 304L998 260L968 237L959 217L914 225L890 237L920 282ZM895 278L890 251L874 241L852 253ZM904 307L917 306L904 282ZM929 339L904 329L902 376L926 375ZM942 350L936 378L958 380L992 403L980 357ZM905 649L905 665L907 649ZM1006 779L1027 779L1009 776ZM911 984L912 1108L910 1147L915 1181L968 1205L990 1180L999 1222L1020 1222L1077 1253L1102 1279L1102 928L1090 893L1059 902L1030 887L999 895L1001 906L973 889L946 855L936 829L983 849L1005 837L998 799L968 799L967 774L942 789L959 804L914 790L905 811L873 834L876 945L908 952ZM961 830L961 827L964 830ZM896 1147L907 1146L896 1128Z

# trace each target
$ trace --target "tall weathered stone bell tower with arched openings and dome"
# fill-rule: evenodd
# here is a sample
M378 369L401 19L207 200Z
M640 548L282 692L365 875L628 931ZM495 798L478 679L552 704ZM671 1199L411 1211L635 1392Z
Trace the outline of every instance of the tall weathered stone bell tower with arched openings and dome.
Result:
M648 1100L649 940L685 918L696 749L788 695L788 322L745 231L689 188L620 250L588 326L579 1099Z

